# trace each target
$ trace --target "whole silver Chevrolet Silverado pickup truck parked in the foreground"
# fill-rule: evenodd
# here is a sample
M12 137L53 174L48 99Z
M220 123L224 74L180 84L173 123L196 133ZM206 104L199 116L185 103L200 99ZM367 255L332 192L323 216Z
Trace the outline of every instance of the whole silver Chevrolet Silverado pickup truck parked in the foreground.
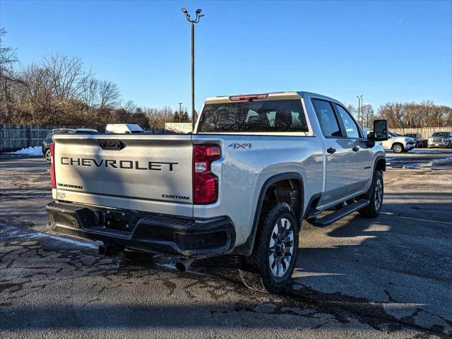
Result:
M50 225L105 254L177 256L180 269L235 255L246 285L280 292L302 220L379 215L386 121L373 131L331 97L284 92L209 97L189 135L57 135Z

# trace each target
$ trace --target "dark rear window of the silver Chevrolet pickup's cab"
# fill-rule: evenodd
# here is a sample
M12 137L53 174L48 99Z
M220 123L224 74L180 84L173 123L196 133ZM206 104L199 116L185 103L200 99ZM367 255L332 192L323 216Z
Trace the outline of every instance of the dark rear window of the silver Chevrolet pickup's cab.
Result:
M301 100L206 103L198 133L308 132Z

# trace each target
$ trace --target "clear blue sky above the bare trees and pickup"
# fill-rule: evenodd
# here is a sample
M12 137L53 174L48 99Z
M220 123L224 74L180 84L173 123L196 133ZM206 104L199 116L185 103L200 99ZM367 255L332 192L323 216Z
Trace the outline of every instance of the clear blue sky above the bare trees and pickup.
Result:
M377 109L387 101L452 105L452 1L5 1L0 26L23 65L81 57L123 100L190 103L196 25L196 109L205 97L309 90Z

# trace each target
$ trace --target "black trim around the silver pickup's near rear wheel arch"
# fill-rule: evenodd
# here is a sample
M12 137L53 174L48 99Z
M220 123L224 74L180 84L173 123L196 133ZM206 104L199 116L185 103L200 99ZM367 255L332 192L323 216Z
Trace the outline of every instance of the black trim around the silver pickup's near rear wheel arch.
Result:
M263 198L266 195L266 191L268 190L268 188L272 185L275 184L275 182L280 182L282 180L287 180L287 179L295 179L300 183L301 186L301 190L302 190L302 194L301 194L301 208L300 208L300 213L299 213L299 219L301 220L302 216L304 215L304 182L303 182L303 177L302 174L299 174L297 172L287 172L287 173L280 173L280 174L275 174L272 177L269 177L268 179L266 179L266 182L263 183L262 187L261 187L261 191L259 193L258 196L258 201L257 201L257 205L256 205L256 210L254 212L254 220L253 220L253 224L251 227L251 232L249 233L248 238L246 239L246 242L240 246L237 246L237 248L234 249L234 251L232 251L232 254L236 254L238 256L250 256L252 251L253 251L253 247L254 247L254 239L256 239L256 232L257 232L257 228L258 228L258 224L259 224L259 218L261 217L261 210L262 210L262 206L263 206ZM301 222L300 222L300 226L301 226Z

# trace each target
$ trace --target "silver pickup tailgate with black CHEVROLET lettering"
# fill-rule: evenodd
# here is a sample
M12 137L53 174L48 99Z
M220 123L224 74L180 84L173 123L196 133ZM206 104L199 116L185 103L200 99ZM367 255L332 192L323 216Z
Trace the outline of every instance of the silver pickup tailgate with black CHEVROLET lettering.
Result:
M54 198L193 216L189 135L59 135Z

